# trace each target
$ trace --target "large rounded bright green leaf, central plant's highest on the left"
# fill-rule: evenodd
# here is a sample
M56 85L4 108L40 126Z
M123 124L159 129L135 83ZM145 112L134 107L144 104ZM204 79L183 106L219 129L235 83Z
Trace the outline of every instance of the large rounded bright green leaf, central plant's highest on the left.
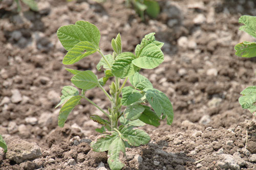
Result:
M100 40L98 28L87 21L76 21L75 25L62 26L58 29L57 36L67 51L81 41L89 41L98 48Z

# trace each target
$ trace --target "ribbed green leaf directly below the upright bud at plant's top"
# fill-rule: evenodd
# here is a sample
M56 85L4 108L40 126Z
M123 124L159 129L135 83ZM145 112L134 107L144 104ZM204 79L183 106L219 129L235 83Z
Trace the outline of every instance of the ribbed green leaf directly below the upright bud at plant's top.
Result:
M135 65L132 64L132 61L135 58L135 55L130 52L119 54L112 65L112 74L118 78L132 76L138 69Z

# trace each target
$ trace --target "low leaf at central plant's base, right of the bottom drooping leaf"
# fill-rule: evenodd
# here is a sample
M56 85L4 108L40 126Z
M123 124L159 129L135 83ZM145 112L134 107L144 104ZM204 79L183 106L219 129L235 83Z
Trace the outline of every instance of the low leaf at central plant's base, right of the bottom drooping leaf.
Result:
M146 144L150 141L150 136L140 129L132 129L133 127L123 128L120 132L128 143L134 147Z

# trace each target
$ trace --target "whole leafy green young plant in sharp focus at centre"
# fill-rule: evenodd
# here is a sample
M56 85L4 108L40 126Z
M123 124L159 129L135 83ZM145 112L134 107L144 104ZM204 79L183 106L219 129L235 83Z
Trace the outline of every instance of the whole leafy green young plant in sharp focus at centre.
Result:
M155 89L151 82L139 74L141 68L152 69L163 62L162 42L155 40L155 33L145 35L136 46L135 54L122 52L121 36L112 39L113 54L104 55L99 47L100 32L96 26L87 21L77 21L75 25L62 26L57 36L68 51L63 58L65 65L74 64L84 57L98 52L101 56L97 69L104 70L104 77L98 79L91 70L75 70L66 68L74 76L73 86L64 86L61 101L56 106L65 103L59 112L58 126L63 127L68 115L80 100L85 99L98 108L107 119L98 115L90 115L94 122L102 125L96 129L101 133L91 147L95 152L108 151L108 163L111 169L121 169L124 164L120 160L125 156L125 147L138 147L150 141L150 136L137 127L146 124L158 127L160 119L167 119L171 125L174 118L173 106L168 97ZM102 86L114 79L107 92ZM124 79L121 83L121 79ZM131 86L125 86L127 81ZM86 90L100 88L111 102L108 111L103 110L85 95ZM151 107L147 106L150 104Z

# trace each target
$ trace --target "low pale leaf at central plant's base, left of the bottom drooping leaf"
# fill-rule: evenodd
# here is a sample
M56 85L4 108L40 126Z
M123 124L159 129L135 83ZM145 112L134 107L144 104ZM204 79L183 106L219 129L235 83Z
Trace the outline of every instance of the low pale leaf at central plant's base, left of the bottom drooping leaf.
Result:
M95 152L104 152L108 151L110 144L117 137L117 133L113 132L111 135L102 134L99 135L92 143L91 147Z

